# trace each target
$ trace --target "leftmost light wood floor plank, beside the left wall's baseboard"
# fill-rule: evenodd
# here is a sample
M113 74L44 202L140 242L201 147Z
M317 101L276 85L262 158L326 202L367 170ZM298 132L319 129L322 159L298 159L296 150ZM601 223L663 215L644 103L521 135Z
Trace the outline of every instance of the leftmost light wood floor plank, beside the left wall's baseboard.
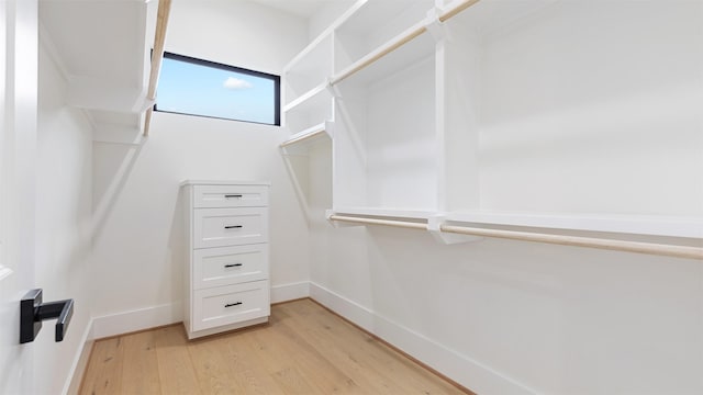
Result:
M123 353L122 338L97 341L80 387L81 394L121 394Z

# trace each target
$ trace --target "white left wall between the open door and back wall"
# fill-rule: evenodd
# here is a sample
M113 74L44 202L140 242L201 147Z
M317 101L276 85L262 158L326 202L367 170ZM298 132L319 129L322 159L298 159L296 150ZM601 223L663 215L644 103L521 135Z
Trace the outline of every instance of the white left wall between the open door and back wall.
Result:
M63 342L54 341L54 321L47 321L33 347L42 377L36 392L58 394L90 328L92 135L82 112L66 105L66 79L44 45L38 63L35 283L45 302L74 298L75 308Z

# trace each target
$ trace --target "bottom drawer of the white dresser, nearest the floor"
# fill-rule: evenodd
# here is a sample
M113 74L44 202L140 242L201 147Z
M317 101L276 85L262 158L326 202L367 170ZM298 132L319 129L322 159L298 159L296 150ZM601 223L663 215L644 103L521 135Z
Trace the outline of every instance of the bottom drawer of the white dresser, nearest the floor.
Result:
M270 315L268 281L194 291L192 330Z

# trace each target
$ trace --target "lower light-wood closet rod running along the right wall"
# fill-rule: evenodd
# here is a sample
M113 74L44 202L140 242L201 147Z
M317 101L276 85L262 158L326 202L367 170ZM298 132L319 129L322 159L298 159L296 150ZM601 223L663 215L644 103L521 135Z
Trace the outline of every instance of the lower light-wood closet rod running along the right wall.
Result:
M412 222L405 222L405 221L389 221L389 219L354 217L354 216L345 216L345 215L331 215L330 219L357 223L357 224L384 225L384 226L394 226L394 227L402 227L402 228L410 228L410 229L427 230L427 225L425 224L412 223ZM603 238L595 238L595 237L550 235L550 234L540 234L540 233L532 233L532 232L484 229L484 228L457 226L457 225L440 225L439 229L442 232L454 233L459 235L496 237L496 238L505 238L505 239L521 240L521 241L547 242L547 244L555 244L555 245L561 245L561 246L589 247L589 248L599 248L599 249L607 249L607 250L616 250L616 251L638 252L638 253L658 255L658 256L666 256L666 257L703 260L703 248L699 248L699 247L614 240L614 239L603 239Z

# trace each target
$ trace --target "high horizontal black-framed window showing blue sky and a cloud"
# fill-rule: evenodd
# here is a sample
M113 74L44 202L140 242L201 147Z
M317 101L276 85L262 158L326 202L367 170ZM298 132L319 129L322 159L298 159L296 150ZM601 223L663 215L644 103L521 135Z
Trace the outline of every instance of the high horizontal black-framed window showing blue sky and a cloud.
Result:
M154 110L280 125L280 77L164 53Z

